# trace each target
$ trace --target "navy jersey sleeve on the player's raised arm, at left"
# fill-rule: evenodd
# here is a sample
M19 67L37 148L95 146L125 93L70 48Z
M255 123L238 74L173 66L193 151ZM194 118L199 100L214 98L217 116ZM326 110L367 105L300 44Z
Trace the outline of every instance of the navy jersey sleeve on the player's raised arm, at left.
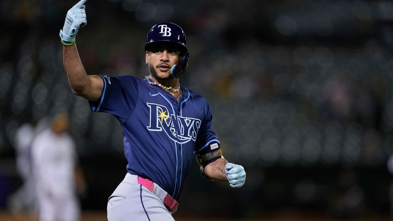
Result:
M99 100L89 101L91 110L110 113L120 122L126 121L132 114L138 97L136 79L132 76L100 77L104 81L104 88Z

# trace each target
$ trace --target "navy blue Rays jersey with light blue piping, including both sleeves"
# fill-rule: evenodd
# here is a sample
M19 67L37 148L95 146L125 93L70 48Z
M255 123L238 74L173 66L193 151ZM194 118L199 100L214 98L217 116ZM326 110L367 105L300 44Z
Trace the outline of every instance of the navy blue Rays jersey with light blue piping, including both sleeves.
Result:
M108 112L119 120L127 171L154 181L178 199L194 154L220 148L208 102L185 87L177 101L145 79L101 77L101 98L89 104L92 111Z

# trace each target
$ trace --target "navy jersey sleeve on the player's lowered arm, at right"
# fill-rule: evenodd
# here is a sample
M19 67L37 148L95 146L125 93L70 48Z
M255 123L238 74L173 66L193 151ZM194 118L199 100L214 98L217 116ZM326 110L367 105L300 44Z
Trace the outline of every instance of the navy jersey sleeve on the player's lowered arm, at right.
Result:
M219 139L212 129L213 115L206 100L203 109L205 119L196 138L194 155L207 154L220 149Z

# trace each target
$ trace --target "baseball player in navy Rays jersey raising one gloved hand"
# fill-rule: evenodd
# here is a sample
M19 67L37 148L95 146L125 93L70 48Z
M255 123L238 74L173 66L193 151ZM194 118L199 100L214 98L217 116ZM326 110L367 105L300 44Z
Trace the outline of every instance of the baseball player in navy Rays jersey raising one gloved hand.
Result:
M127 174L109 197L108 220L174 220L194 156L206 179L241 187L244 168L222 156L208 102L179 83L190 56L182 28L161 22L149 30L144 79L87 75L75 44L87 23L85 2L67 12L60 38L72 92L92 111L113 114L124 132Z

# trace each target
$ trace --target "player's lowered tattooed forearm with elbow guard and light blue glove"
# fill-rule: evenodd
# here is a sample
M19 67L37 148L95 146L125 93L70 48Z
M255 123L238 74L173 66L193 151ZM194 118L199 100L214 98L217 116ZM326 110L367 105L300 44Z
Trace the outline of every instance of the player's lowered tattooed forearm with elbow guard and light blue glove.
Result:
M196 160L201 165L201 173L208 180L227 181L233 188L240 188L245 182L243 166L229 163L221 150L211 153L196 155Z

